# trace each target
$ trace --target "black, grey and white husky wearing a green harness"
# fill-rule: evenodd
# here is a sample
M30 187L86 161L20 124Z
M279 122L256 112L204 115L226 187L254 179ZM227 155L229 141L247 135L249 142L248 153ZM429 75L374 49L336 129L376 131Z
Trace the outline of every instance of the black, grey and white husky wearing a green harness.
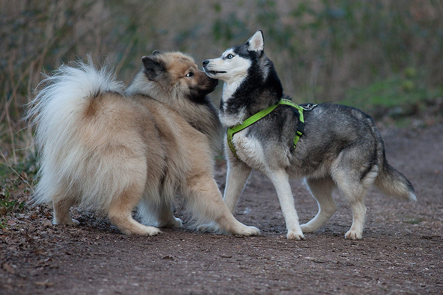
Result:
M231 212L252 169L274 184L288 239L303 239L303 233L313 233L326 223L337 210L332 198L336 187L352 209L352 225L345 234L350 239L362 238L364 199L373 184L394 198L416 201L411 182L387 163L370 116L343 105L300 108L287 101L279 103L285 98L282 84L263 45L263 33L258 30L220 58L203 61L206 74L224 82L220 119L230 127L226 139L231 141L225 142L228 170L223 199ZM275 109L264 117L248 119L270 107ZM254 122L238 128L245 120ZM289 177L305 177L318 203L318 213L306 224L299 224Z

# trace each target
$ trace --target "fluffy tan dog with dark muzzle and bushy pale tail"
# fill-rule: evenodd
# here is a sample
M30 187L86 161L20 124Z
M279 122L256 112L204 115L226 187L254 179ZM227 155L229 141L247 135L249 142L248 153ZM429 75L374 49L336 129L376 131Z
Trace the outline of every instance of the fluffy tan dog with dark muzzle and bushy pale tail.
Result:
M91 61L43 82L28 113L40 153L34 200L54 205L54 224L79 224L69 208L81 205L125 234L156 235L182 225L172 212L178 193L195 225L258 235L233 217L213 178L221 124L206 95L217 80L182 53L155 51L142 64L126 90Z

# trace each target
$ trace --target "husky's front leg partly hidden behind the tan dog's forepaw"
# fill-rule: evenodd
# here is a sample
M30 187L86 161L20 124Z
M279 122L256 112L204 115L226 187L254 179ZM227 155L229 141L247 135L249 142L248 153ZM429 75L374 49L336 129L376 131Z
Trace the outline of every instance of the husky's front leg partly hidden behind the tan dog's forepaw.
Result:
M245 183L251 174L252 169L245 163L234 159L228 159L228 169L226 175L226 187L224 188L223 201L231 213L234 212L238 199L245 188Z

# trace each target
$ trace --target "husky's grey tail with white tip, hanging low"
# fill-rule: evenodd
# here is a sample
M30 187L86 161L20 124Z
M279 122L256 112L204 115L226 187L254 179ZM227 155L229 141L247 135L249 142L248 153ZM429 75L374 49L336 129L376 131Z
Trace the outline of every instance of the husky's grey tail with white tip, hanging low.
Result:
M416 202L417 198L411 182L387 163L384 148L381 151L379 173L374 182L375 186L395 199Z

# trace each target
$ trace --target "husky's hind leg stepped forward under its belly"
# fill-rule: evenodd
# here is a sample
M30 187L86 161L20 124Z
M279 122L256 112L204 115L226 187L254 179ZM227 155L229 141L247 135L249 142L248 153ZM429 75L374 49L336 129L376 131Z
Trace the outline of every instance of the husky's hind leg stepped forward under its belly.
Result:
M300 225L300 228L303 233L314 233L337 211L337 204L332 198L332 190L336 185L331 177L307 178L306 184L317 201L318 213L311 221Z

